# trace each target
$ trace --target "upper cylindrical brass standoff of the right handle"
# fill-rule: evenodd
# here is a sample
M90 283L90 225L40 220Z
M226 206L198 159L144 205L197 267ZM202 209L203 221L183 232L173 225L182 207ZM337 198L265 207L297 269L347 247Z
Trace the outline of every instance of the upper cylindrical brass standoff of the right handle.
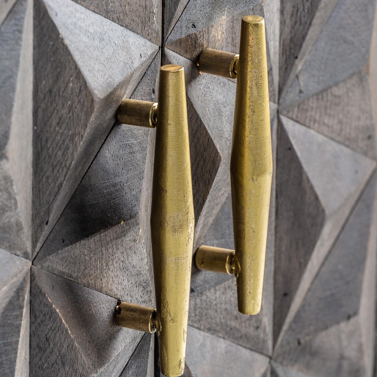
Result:
M237 60L238 54L207 48L200 54L198 66L202 73L237 78L237 72L234 67Z

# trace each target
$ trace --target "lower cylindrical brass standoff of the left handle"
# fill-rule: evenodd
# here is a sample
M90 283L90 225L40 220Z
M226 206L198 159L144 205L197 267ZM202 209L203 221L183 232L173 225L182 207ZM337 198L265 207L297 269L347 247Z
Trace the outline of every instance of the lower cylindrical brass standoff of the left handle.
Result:
M154 333L156 331L155 320L155 308L119 301L116 305L116 322L119 326L145 333Z

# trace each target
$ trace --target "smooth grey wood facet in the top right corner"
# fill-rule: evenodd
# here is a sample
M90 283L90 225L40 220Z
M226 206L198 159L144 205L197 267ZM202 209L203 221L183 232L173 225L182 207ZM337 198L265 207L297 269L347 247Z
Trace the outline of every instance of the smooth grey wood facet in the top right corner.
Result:
M354 22L355 9L357 18L363 20L360 23ZM310 50L292 70L280 106L291 106L362 69L369 56L374 10L374 0L336 3Z

